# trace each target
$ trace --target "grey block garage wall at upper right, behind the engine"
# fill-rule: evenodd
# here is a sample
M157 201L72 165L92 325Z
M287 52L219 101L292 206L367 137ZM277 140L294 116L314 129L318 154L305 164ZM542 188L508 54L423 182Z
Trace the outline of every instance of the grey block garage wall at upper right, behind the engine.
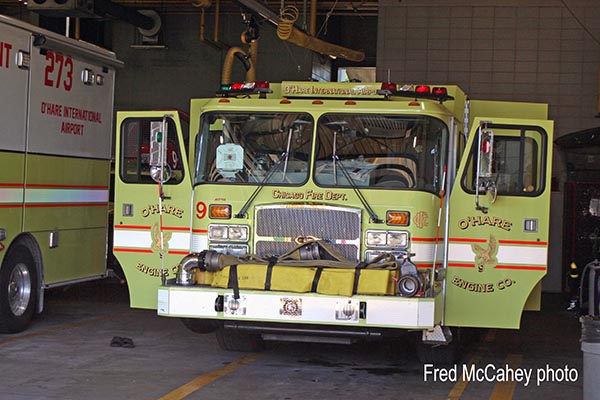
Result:
M398 83L457 84L474 99L548 103L555 137L600 126L597 1L379 4L379 80L389 74ZM558 182L564 182L564 169L555 148L553 175ZM561 290L561 199L562 193L553 193L547 291Z

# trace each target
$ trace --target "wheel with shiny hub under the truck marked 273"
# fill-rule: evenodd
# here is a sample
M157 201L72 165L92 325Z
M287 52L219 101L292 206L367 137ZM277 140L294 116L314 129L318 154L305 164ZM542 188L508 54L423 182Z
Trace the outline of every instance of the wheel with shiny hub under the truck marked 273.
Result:
M35 312L37 282L31 252L22 244L15 245L0 270L0 332L27 328Z

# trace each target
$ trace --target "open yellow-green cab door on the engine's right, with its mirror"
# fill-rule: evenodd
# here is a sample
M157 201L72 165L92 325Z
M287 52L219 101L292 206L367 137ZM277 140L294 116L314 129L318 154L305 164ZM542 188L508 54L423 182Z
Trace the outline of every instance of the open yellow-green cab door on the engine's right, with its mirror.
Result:
M553 123L478 118L449 200L445 325L518 328L547 271Z

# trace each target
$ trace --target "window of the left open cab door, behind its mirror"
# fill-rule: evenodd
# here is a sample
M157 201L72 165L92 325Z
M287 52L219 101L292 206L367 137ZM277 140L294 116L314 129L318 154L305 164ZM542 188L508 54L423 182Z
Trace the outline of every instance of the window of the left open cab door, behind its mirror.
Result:
M152 118L131 118L121 125L121 170L123 182L156 184L150 177L150 123ZM162 121L162 119L161 119ZM183 160L177 139L177 128L167 120L167 164L172 176L165 184L177 184L183 179Z

